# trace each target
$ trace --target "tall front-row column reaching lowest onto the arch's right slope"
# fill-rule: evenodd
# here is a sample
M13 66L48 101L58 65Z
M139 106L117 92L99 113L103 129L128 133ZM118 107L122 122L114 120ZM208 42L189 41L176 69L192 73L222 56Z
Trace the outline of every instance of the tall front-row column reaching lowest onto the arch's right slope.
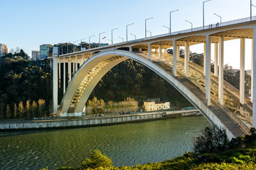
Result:
M210 35L206 35L206 105L210 106Z

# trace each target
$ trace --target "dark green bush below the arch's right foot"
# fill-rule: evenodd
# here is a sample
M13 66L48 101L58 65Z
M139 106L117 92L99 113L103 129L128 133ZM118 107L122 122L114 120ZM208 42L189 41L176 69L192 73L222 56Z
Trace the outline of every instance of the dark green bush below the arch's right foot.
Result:
M193 151L196 154L223 152L228 149L228 136L223 128L217 126L206 127L193 140Z

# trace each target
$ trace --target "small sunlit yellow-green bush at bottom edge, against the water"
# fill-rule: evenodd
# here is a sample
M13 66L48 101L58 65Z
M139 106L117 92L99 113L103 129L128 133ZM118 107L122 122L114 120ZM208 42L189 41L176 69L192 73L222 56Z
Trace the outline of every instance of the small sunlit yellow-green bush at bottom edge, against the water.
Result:
M96 168L107 168L112 166L112 161L105 154L102 154L99 150L94 150L91 159L86 159L82 162L80 169L96 169Z

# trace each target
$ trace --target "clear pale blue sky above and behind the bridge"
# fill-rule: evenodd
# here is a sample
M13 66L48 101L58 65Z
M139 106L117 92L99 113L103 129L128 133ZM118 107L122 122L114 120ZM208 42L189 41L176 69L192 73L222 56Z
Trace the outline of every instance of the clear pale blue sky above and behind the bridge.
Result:
M256 5L256 0L252 0ZM0 43L6 44L9 50L20 47L31 56L31 50L39 50L41 44L58 42L101 42L111 43L111 30L114 43L126 39L133 40L134 34L144 38L144 21L147 30L153 35L168 33L169 12L171 13L171 31L186 30L193 23L193 28L203 24L203 0L0 0ZM213 0L205 3L205 25L250 17L250 0ZM252 7L252 16L256 8ZM121 37L121 38L119 38ZM75 42L75 43L78 43ZM224 63L239 69L240 40L229 40L224 43ZM251 69L251 40L245 41L245 69ZM212 48L214 49L214 48ZM203 45L193 45L191 52L203 53ZM213 51L213 50L212 50ZM213 60L212 55L212 60Z

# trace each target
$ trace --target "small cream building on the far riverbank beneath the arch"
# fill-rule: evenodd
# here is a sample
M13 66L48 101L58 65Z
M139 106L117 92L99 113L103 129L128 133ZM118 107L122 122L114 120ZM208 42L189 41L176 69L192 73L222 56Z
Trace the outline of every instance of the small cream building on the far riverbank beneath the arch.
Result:
M170 108L170 102L144 101L146 111L163 111Z

